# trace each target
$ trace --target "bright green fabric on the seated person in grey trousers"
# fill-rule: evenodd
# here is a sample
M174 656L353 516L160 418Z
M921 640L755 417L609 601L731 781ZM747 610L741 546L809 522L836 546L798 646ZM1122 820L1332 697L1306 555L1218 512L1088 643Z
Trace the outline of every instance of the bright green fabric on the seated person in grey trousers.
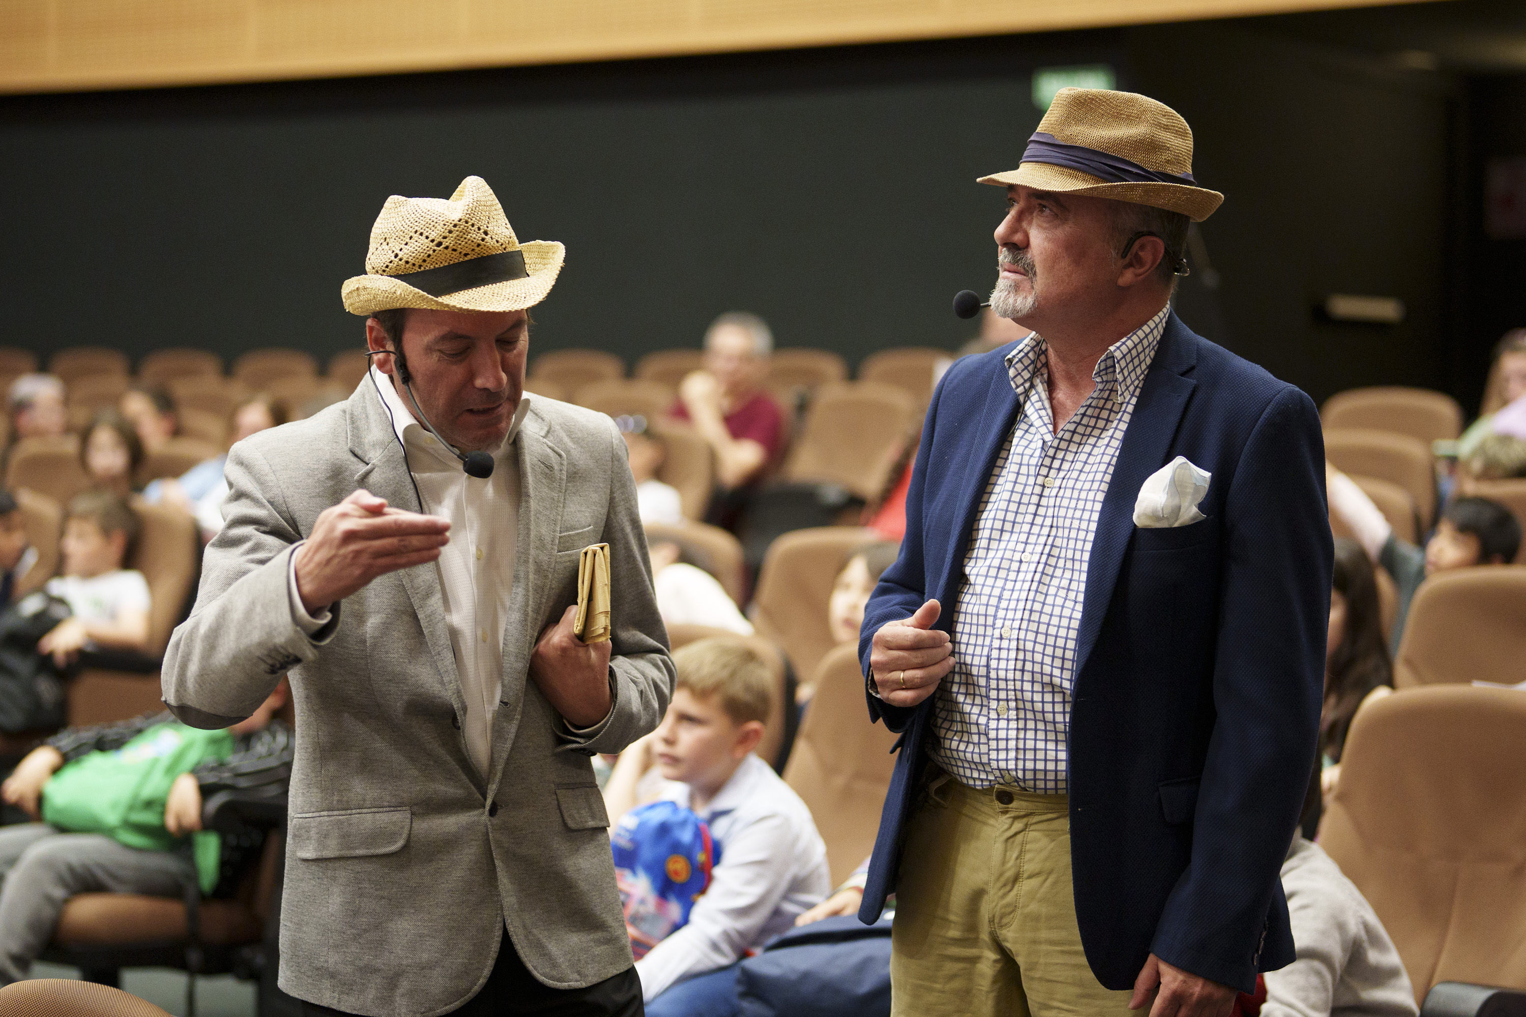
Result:
M169 787L204 759L230 755L227 730L154 724L114 752L90 752L64 764L43 785L43 820L72 834L105 834L128 848L171 851L180 840L165 829ZM221 840L211 829L195 833L192 851L201 892L211 893Z

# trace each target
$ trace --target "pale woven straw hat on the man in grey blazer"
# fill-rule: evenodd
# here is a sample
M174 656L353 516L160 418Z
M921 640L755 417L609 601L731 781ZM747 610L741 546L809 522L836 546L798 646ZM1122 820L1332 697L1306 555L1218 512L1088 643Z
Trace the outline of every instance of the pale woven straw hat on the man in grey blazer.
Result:
M388 198L371 227L366 274L340 293L351 314L522 311L546 299L565 258L555 241L520 244L493 189L467 177L449 200Z

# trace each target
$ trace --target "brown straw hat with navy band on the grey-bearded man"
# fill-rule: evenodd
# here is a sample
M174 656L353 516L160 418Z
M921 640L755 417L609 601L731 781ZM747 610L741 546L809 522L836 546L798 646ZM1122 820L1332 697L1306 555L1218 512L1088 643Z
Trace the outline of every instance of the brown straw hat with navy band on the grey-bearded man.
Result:
M1149 96L1103 88L1056 91L1018 168L978 183L1149 204L1193 223L1224 201L1192 178L1192 128L1180 113Z

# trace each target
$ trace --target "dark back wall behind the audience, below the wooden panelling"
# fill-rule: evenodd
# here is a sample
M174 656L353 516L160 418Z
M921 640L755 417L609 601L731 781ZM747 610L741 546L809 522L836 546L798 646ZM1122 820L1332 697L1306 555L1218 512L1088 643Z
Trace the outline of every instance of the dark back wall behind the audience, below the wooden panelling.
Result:
M1189 323L1315 398L1437 381L1447 104L1254 21L913 46L0 101L0 343L226 355L359 343L339 285L389 194L484 175L568 264L540 349L635 360L722 310L850 361L954 346L949 296L993 278L1001 195L1038 122L1035 66L1108 61L1175 105L1221 284ZM1401 296L1396 328L1332 326L1331 291Z

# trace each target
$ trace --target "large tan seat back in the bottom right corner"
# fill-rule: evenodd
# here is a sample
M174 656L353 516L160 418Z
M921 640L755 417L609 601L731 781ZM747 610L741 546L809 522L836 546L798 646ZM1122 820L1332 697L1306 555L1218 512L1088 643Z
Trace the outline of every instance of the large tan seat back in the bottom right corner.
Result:
M1352 721L1320 845L1415 985L1526 988L1526 695L1437 686Z

